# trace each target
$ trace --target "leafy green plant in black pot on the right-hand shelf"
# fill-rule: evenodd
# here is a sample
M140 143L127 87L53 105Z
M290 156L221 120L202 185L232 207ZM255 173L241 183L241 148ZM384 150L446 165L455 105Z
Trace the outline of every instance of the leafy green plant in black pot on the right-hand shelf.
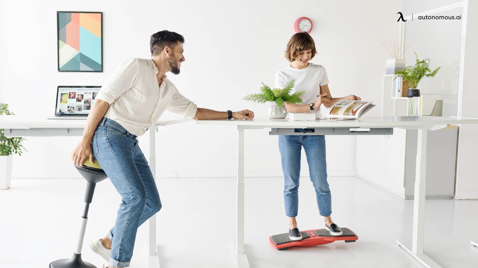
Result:
M430 63L430 59L425 59L425 60L419 60L418 55L416 52L415 56L417 57L415 66L407 66L403 68L401 71L398 71L397 74L401 74L403 79L408 81L408 84L410 85L410 88L407 90L407 97L418 97L420 96L420 90L417 89L418 83L424 76L426 77L434 77L438 70L440 70L440 67L436 68L433 72L430 70L428 67L428 64ZM400 76L398 76L400 77ZM398 77L395 77L398 78Z

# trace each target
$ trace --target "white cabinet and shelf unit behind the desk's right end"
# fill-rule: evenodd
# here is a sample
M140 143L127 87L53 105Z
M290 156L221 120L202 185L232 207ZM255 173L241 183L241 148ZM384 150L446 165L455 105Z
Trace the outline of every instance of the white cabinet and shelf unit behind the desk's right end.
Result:
M395 77L383 76L382 116L412 115L412 98L394 95ZM426 198L454 195L457 131L456 126L428 131ZM357 136L357 155L361 156L356 161L357 175L397 196L413 199L416 147L417 130L395 128L393 135Z

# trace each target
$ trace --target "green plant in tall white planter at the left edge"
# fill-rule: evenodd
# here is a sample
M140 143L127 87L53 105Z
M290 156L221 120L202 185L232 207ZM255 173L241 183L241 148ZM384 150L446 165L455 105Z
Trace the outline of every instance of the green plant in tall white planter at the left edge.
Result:
M8 104L0 103L0 115L13 114L8 110ZM5 137L5 130L0 129L0 190L10 188L11 164L13 154L22 155L22 150L28 152L22 145L24 138Z

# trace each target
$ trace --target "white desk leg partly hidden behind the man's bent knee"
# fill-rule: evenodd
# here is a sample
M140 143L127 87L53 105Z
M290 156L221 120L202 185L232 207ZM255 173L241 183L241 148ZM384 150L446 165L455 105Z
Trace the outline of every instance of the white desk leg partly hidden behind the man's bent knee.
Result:
M156 130L157 125L148 128L150 133L150 157L149 165L152 177L156 181ZM149 242L148 242L148 268L159 268L159 256L156 254L156 215L149 218Z

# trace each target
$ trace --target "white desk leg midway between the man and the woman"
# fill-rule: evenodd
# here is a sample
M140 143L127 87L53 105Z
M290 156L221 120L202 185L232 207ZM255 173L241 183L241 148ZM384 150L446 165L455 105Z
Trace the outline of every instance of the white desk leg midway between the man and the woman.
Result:
M237 223L235 255L239 268L249 268L244 252L244 130L238 129L238 184L237 184Z

